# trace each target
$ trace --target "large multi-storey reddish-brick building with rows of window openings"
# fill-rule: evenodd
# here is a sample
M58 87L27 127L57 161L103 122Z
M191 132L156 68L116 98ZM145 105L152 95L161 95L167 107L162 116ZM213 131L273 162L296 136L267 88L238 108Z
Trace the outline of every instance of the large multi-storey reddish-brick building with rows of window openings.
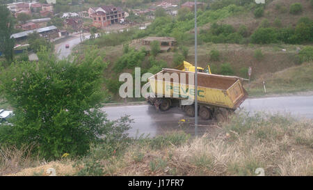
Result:
M121 8L115 6L101 6L91 14L93 18L93 26L104 28L111 24L118 24L125 20L125 12Z

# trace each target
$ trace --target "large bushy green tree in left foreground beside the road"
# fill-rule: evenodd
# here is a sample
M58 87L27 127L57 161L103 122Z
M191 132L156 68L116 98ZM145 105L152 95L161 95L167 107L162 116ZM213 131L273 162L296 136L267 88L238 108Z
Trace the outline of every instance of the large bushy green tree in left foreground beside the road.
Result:
M55 159L65 152L83 155L101 136L117 138L117 129L129 129L127 119L111 122L99 110L107 64L97 55L96 49L88 49L83 59L70 63L56 61L44 48L38 64L10 65L1 75L0 89L15 111L14 127L0 127L0 143L35 144L40 156Z

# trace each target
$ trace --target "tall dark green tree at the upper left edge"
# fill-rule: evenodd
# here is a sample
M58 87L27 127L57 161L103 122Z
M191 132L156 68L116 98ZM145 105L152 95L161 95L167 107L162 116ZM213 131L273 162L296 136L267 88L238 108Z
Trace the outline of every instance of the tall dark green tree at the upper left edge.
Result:
M14 38L10 38L14 31L13 17L5 5L0 4L0 52L7 62L13 61Z

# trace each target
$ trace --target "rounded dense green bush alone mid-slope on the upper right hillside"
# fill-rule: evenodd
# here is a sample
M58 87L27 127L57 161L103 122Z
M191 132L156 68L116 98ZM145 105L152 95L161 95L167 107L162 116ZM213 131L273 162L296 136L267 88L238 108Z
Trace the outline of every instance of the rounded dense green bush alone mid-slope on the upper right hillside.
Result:
M273 28L259 28L251 35L251 42L256 44L269 44L276 41L277 33Z

